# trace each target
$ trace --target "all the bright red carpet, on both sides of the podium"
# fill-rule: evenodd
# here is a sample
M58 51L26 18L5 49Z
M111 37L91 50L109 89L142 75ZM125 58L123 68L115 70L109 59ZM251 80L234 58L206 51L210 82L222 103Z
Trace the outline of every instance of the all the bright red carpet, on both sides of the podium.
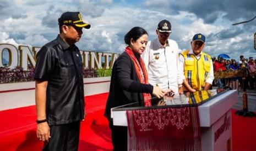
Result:
M106 94L86 96L85 121L81 123L79 150L112 150L111 132L104 117ZM256 150L256 118L232 112L233 151ZM41 150L36 138L35 106L0 111L0 150Z

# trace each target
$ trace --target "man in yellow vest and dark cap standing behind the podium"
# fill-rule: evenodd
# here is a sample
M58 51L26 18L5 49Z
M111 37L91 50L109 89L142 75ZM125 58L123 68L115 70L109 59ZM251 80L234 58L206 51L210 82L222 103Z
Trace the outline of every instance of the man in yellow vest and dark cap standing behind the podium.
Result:
M193 36L190 50L179 55L179 63L183 71L183 85L191 92L209 90L214 80L211 56L203 53L205 36L201 33Z

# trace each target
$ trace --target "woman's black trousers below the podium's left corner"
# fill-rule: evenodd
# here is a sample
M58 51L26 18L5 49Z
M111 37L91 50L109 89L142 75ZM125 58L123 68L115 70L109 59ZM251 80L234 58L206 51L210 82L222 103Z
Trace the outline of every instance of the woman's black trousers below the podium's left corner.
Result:
M113 144L113 151L127 150L127 126L114 126L113 121L109 120L111 129L111 137Z

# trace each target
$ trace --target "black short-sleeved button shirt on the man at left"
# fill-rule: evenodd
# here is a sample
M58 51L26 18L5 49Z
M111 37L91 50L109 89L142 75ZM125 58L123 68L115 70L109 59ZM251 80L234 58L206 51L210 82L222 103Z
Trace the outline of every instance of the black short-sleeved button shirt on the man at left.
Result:
M37 54L35 80L47 81L46 118L49 125L84 118L83 63L78 47L61 37L44 45Z

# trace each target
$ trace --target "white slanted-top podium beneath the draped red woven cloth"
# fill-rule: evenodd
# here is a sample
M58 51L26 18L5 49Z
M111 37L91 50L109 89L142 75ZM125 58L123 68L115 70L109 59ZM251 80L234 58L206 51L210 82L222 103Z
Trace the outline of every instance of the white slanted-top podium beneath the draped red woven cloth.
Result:
M208 97L204 97L203 94L206 94L206 92L198 91L197 94L189 95L189 97L176 95L172 100L165 100L168 105L163 107L198 106L202 150L232 150L231 108L238 101L237 91L226 90L217 93L216 90L209 90L207 91ZM200 98L201 100L195 101L194 98ZM145 107L139 106L139 103L112 108L113 125L127 126L126 111L141 108Z

